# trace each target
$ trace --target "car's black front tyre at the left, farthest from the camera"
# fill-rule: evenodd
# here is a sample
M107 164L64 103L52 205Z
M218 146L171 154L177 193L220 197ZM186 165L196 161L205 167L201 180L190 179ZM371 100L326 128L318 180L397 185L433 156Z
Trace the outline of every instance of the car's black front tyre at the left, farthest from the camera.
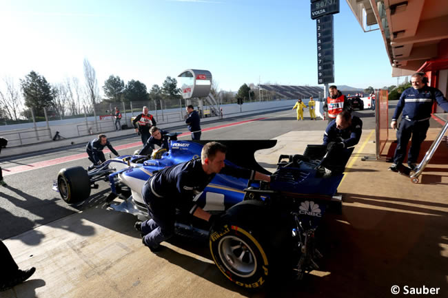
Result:
M62 200L68 204L81 202L90 196L90 179L83 167L61 169L57 185Z

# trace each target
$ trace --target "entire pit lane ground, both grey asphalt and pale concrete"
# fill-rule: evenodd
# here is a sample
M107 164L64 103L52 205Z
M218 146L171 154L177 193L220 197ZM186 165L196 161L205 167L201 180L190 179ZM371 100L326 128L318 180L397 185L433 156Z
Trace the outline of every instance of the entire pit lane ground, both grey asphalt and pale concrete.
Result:
M446 297L446 164L432 167L431 175L440 176L438 183L411 184L388 172L385 162L361 162L361 156L374 154L374 117L373 111L356 114L363 118L364 131L338 189L345 199L343 212L325 215L321 268L303 281L258 291L240 288L213 264L207 243L181 237L164 242L159 255L152 254L134 231L135 217L105 208L107 185L75 206L51 191L61 167L88 166L88 160L81 159L6 175L9 186L0 189L0 237L8 238L5 243L21 268L36 266L37 272L0 297L389 297L394 284L438 286L440 297ZM265 119L254 120L258 118ZM243 120L254 121L205 131L203 139L275 138L276 147L256 154L271 169L279 154L303 153L307 144L319 144L327 124L306 118L297 122L294 111L282 111L203 128ZM117 138L112 144L125 147L138 140ZM2 161L1 167L12 169L83 150L14 158Z

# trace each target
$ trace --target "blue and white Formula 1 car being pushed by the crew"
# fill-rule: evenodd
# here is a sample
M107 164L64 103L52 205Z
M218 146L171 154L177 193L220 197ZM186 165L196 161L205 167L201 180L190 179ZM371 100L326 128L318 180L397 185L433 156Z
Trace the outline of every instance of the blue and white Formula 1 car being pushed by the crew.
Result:
M120 156L101 167L62 169L58 175L61 197L68 203L85 200L90 187L108 180L116 211L147 217L141 188L154 171L199 158L207 141L172 140L170 149L157 156ZM255 160L254 152L276 145L276 140L227 140L226 164L271 175L271 182L248 181L217 174L194 199L205 211L221 214L218 227L192 215L176 215L176 234L208 237L210 252L219 270L245 288L263 286L276 273L291 272L301 279L318 268L320 253L314 233L328 204L335 200L343 169L353 149L327 152L326 146L308 145L303 155L280 156L269 173ZM340 201L339 201L340 202ZM288 270L288 271L285 271Z

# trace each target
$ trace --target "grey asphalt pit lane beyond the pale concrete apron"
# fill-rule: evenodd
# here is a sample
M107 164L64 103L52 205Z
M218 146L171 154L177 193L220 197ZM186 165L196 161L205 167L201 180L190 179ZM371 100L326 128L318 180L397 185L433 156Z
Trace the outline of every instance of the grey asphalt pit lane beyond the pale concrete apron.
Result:
M363 119L364 129L374 129L374 111L355 111L354 114ZM210 124L207 123L207 125L202 125L203 129L238 121L265 118L241 125L205 131L201 138L203 140L266 140L276 138L289 131L325 130L327 121L311 121L306 115L307 111L305 111L305 120L296 121L295 111L277 111L261 115L243 116L238 119L232 118ZM167 130L186 131L185 128ZM131 129L129 132L130 134L127 137L111 138L112 145L117 147L140 140L139 136L136 136ZM190 140L190 136L185 136L180 139ZM123 149L119 153L121 155L132 154L139 148L141 147ZM30 152L23 157L8 158L8 160L0 159L0 166L2 169L8 171L8 168L11 167L72 156L84 152L85 144L75 144L70 148L52 149L39 153ZM99 182L99 189L92 189L89 200L71 206L61 200L59 193L52 191L52 182L57 178L57 173L60 169L75 166L88 167L89 164L90 162L85 158L7 175L5 181L8 183L8 186L0 187L0 238L4 240L86 208L104 205L105 198L109 193L109 187L106 182ZM70 227L67 228L70 229ZM34 245L37 245L37 243Z

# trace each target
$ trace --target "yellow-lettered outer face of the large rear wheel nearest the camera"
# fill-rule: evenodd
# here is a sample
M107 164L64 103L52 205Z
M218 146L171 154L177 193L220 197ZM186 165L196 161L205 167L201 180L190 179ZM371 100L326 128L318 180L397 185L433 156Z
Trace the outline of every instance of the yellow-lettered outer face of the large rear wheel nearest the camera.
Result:
M223 224L211 231L210 252L223 275L238 286L260 288L269 279L266 248L249 229Z

